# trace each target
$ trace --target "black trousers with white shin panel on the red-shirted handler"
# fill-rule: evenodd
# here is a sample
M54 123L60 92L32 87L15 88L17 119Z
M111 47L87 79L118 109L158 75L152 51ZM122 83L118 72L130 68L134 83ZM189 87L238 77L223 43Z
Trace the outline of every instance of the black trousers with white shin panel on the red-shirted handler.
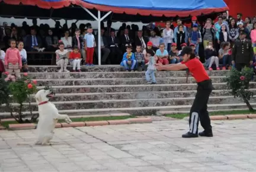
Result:
M212 80L204 80L197 83L197 93L194 99L193 105L190 109L190 131L193 134L198 134L199 121L203 126L204 131L211 132L212 126L210 125L210 117L207 111L207 102L209 100L210 93L213 90Z

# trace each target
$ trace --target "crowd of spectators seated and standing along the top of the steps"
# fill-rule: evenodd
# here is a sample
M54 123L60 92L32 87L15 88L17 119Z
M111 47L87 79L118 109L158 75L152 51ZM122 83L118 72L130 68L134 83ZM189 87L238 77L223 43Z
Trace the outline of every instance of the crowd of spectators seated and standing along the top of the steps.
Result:
M246 17L242 20L242 14L237 17L228 17L226 12L217 18L217 22L213 22L210 18L204 22L198 22L197 17L191 18L191 27L186 27L180 18L176 21L177 26L174 27L172 22L167 21L164 29L153 24L143 26L142 30L135 24L126 25L123 23L118 31L111 28L111 21L101 24L101 32L94 35L92 51L93 61L97 64L98 56L98 37L101 37L101 64L120 64L127 70L136 70L141 66L144 68L148 63L149 50L155 52L157 63L174 64L179 63L182 59L179 56L180 51L185 46L194 48L197 57L204 63L209 70L213 70L212 65L216 66L216 70L225 70L231 67L231 48L236 40L239 39L241 30L246 33L246 38L251 40L252 45L256 46L256 17ZM4 44L0 51L1 60L4 51L10 46L10 40L15 40L16 45L23 44L23 54L25 51L53 51L57 52L61 45L68 52L76 49L81 54L81 64L92 65L89 60L85 37L87 29L91 28L91 24L81 24L79 27L75 23L68 28L68 25L60 25L56 21L55 28L50 28L48 24L37 25L37 20L33 20L33 25L28 26L24 21L22 27L11 24L9 27L4 23L0 30L0 41ZM127 54L127 47L135 58L132 63L127 64L126 60L130 60L130 56L124 58ZM88 49L88 50L87 50ZM20 50L21 51L21 50ZM59 52L59 51L58 51ZM66 51L65 51L66 52ZM57 53L56 53L57 54ZM130 54L130 53L128 53ZM57 54L58 56L58 54ZM24 69L27 69L27 54L23 55ZM68 57L69 58L69 57ZM90 57L91 58L91 57ZM58 59L57 59L58 60ZM70 60L69 60L70 61ZM135 64L133 64L135 63ZM66 63L65 63L66 65ZM80 67L78 67L80 70ZM65 69L66 70L66 69Z

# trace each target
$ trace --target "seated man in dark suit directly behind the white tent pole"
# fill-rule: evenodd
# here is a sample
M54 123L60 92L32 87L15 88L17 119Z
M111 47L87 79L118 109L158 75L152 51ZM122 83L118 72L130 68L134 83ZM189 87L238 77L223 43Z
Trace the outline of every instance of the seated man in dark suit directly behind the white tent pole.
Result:
M105 32L104 28L101 28L101 33L100 33L101 64L106 63L108 55L110 54L110 49L108 48L107 38L104 37L104 32ZM99 34L95 36L95 42L97 47L94 48L97 57L98 57L98 45L99 45L98 36Z

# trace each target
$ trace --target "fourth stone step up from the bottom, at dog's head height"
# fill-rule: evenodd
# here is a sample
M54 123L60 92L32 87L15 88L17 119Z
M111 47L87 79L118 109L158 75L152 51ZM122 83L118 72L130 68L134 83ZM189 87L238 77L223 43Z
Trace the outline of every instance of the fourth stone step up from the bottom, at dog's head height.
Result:
M250 87L255 87L251 82ZM158 92L196 90L197 84L163 84L163 85L91 85L91 86L52 86L55 93L110 93L110 92ZM226 83L213 83L216 90L226 89ZM43 89L44 86L37 87Z

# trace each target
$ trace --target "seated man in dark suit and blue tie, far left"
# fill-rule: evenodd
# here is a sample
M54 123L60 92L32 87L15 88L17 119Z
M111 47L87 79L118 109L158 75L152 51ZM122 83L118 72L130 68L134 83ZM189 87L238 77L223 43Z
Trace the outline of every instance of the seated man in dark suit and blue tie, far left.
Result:
M35 28L31 28L30 35L27 35L25 50L27 51L37 51L37 48L41 48L41 38L37 36L37 31Z

